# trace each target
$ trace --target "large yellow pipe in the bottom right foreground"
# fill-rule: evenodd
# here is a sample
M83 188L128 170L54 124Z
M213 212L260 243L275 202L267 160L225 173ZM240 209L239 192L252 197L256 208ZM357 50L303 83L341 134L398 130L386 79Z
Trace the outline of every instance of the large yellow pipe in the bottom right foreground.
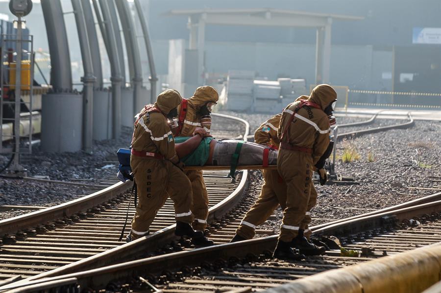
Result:
M441 280L441 243L271 288L293 293L420 293Z

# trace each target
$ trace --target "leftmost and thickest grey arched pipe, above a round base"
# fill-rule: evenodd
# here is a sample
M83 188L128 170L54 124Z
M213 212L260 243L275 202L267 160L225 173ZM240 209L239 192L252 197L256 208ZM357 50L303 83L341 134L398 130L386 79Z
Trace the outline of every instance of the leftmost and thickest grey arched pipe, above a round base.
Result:
M55 91L72 90L71 57L59 0L42 0L50 52L50 85Z

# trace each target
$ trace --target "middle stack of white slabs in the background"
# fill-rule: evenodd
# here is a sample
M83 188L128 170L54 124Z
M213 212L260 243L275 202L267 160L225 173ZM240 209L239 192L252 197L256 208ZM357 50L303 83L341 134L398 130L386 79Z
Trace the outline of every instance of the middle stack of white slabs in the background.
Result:
M278 81L254 81L254 111L278 112L282 107L280 99L280 85Z

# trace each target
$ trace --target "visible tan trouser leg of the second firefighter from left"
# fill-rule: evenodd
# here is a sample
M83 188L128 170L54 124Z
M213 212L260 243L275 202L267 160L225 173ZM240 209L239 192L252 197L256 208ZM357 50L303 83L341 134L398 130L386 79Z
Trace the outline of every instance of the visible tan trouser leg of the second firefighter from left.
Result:
M195 222L193 228L195 230L204 230L207 227L208 217L208 193L205 186L204 177L201 170L192 170L185 172L188 179L192 183L193 190L193 205L191 207L192 213L195 215ZM202 222L205 221L205 222Z

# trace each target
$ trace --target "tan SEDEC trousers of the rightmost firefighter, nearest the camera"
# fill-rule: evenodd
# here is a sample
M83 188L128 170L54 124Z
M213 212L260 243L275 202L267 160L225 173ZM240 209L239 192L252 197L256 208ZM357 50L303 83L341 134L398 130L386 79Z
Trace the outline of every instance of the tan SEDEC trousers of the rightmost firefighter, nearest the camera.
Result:
M287 199L283 211L279 240L290 242L298 234L308 211L313 175L312 156L307 153L279 150L277 171L286 182Z

